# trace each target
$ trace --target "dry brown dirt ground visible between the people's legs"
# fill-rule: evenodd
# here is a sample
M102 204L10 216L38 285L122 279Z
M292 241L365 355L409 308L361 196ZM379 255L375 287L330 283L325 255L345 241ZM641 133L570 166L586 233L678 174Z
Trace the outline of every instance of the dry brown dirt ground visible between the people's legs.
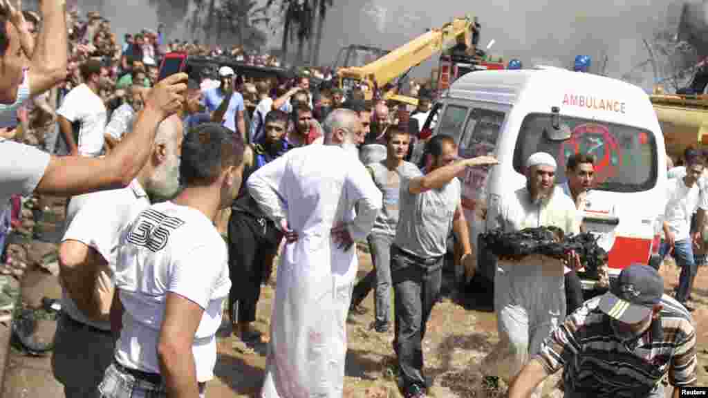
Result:
M370 257L360 251L362 277L371 269ZM673 263L662 267L666 290L670 292L678 281L678 268ZM275 277L263 287L258 306L256 329L268 336L271 302L275 296ZM443 288L445 291L446 289ZM25 301L41 297L58 298L56 277L46 272L30 272L23 280ZM698 334L699 385L708 386L708 271L700 268L694 296L695 321ZM393 333L379 334L370 329L373 319L373 299L363 302L366 314L353 315L348 322L348 354L346 361L346 398L400 397L394 377ZM228 323L228 322L225 322ZM50 334L54 325L42 326ZM266 346L246 347L231 336L228 327L219 331L219 358L215 379L207 387L209 397L256 397L265 369ZM427 376L433 378L430 396L447 397L503 397L506 387L490 389L481 383L481 359L498 341L496 316L493 312L466 309L457 300L445 295L433 309L428 334L423 343ZM556 378L557 380L557 378ZM554 382L546 383L547 397L562 397L554 389ZM670 392L667 391L667 394ZM8 361L4 394L2 397L62 397L62 388L52 377L50 358L28 357L12 351Z

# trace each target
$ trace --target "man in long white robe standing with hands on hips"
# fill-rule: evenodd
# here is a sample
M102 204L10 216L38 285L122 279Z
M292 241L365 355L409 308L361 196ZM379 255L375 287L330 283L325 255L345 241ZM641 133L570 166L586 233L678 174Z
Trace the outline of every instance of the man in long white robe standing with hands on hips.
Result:
M251 175L249 192L285 235L261 397L342 397L346 317L382 193L357 156L352 110L324 121L324 145L290 150ZM356 212L354 208L356 207Z

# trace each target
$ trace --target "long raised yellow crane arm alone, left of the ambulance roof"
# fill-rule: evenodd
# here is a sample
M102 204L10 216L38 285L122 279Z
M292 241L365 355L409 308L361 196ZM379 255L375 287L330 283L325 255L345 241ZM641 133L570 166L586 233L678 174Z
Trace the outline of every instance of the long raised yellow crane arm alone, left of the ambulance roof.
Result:
M432 57L435 52L448 45L455 45L455 40L460 35L464 35L467 47L472 47L472 29L474 29L472 17L455 18L442 28L430 30L370 64L363 67L343 68L340 69L339 74L345 79L375 83L379 89L382 89L401 74ZM373 87L370 86L370 89Z

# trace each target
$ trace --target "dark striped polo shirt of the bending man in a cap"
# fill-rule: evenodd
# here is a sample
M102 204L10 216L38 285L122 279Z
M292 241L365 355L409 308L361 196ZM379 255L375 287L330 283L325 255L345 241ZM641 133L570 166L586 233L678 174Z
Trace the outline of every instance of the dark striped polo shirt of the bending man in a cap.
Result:
M600 298L556 326L535 357L549 374L563 368L566 394L647 397L667 373L673 386L696 384L696 331L685 307L663 295L659 319L636 339L622 341L598 308Z

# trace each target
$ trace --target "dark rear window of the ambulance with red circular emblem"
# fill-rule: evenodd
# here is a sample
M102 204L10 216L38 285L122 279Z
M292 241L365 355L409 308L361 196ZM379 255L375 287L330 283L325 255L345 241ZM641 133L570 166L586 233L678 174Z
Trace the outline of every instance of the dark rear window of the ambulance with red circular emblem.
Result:
M570 140L553 142L543 131L551 128L551 115L532 113L521 126L514 151L514 169L535 152L548 152L558 162L556 183L566 181L566 159L574 152L595 156L595 188L612 192L648 191L656 185L658 156L651 132L637 127L564 116L573 133Z

